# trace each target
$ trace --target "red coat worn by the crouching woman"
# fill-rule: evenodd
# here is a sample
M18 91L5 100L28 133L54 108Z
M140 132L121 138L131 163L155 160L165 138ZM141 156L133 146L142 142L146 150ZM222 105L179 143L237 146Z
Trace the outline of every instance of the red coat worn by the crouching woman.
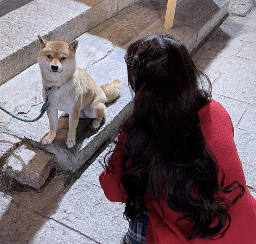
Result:
M225 173L225 184L238 181L245 186L244 196L231 206L231 225L223 237L217 240L205 240L196 238L187 240L189 231L193 228L193 222L188 220L176 221L183 216L171 210L166 202L157 204L147 201L146 207L150 221L147 228L146 244L256 244L256 200L246 187L245 176L239 159L236 145L233 139L234 128L229 114L213 99L199 112L201 130L205 140L209 143L211 151L219 164L219 171ZM119 142L125 141L125 134L119 136ZM119 147L118 145L117 147ZM100 175L100 184L106 197L113 202L125 202L127 193L121 184L122 177L122 152L114 152L111 156L115 174L106 173ZM219 175L220 178L220 175ZM234 199L241 189L237 188L230 194L222 194L228 199Z

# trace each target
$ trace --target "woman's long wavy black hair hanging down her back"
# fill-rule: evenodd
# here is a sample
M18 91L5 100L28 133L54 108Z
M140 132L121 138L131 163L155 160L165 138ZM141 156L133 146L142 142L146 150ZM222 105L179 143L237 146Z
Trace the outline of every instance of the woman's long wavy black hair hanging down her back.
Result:
M147 193L194 222L188 240L220 238L231 223L229 207L244 187L224 187L224 175L218 182L218 162L200 129L198 111L211 97L209 78L195 66L186 47L167 35L131 44L125 61L134 100L131 115L121 126L127 135L122 148L121 181L129 195L124 215L128 220L140 216ZM128 159L132 164L126 168ZM237 187L241 194L233 202L216 198Z

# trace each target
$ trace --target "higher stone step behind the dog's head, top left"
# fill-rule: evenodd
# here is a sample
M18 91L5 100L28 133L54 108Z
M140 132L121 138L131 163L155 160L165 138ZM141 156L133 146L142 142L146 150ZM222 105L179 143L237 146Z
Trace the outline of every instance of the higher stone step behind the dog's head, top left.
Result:
M0 85L36 62L37 34L70 42L134 1L34 0L0 17Z

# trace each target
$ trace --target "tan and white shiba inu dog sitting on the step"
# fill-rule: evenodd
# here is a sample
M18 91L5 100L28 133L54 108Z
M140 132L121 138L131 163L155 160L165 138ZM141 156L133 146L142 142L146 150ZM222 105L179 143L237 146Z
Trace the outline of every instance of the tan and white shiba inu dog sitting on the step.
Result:
M40 35L38 39L41 45L38 64L43 80L43 98L45 87L59 86L48 96L50 131L43 139L43 144L52 143L56 137L60 110L63 111L62 116L69 116L67 146L71 148L75 145L79 118L93 118L93 127L98 128L102 118L107 116L105 103L113 102L119 96L121 82L116 79L99 87L86 71L78 68L75 59L78 40L70 43L47 41Z

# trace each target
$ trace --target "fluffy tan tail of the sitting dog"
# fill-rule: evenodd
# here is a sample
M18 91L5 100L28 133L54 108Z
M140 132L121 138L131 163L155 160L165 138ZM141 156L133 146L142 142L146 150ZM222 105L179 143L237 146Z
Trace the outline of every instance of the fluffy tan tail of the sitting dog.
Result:
M115 101L115 99L120 95L122 85L119 79L115 79L109 84L102 85L100 88L104 91L106 95L106 102L111 103Z

